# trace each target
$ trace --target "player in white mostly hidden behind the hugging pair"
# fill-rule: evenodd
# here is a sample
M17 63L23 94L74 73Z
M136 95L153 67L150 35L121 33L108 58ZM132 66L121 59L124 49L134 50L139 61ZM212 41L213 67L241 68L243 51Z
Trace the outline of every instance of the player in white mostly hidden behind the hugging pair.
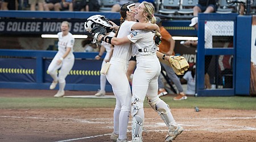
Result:
M115 33L114 32L109 32L108 34L106 34L108 36L115 36ZM101 43L101 48L100 48L100 52L98 53L97 56L95 56L95 59L96 60L100 60L101 59L101 56L102 54L106 51L106 56L104 58L104 60L102 61L102 64L101 64L101 68L106 64L106 62L110 61L111 59L111 56L113 54L113 48L112 48L112 45L109 44L109 43L106 43L105 41L103 41ZM106 87L106 76L105 74L101 74L100 76L100 91L98 91L98 93L96 93L95 95L97 97L100 97L100 96L104 96L106 94L106 91L105 91L105 87Z

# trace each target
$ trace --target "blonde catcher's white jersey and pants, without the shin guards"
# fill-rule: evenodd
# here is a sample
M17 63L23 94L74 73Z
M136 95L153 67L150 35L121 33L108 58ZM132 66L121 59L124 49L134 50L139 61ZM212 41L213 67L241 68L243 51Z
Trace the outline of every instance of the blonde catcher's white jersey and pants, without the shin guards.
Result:
M158 76L161 71L160 62L156 57L155 33L135 30L127 37L135 43L133 56L136 56L137 68L133 74L133 96L139 98L141 108L146 95L158 96Z

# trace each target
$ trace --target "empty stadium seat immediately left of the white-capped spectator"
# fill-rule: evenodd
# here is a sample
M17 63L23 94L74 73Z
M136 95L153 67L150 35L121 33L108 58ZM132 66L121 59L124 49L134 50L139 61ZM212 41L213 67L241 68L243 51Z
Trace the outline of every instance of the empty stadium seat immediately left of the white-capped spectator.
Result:
M177 11L179 14L193 14L193 7L196 6L198 0L183 0L181 9Z

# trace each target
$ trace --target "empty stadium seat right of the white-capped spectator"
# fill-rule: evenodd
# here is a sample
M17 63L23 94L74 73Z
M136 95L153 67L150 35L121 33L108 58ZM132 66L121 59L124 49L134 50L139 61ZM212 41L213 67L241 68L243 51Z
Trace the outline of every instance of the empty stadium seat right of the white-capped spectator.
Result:
M219 0L218 9L216 13L232 13L237 11L237 5L234 3L227 3L226 0Z

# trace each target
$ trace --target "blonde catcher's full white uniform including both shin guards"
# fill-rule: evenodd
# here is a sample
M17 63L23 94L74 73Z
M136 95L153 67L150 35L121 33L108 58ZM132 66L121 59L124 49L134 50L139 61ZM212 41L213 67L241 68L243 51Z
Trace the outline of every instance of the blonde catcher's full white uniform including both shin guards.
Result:
M148 104L158 112L164 123L171 130L175 120L168 105L158 97L158 76L161 66L156 56L155 33L151 31L133 31L127 37L135 43L133 56L136 56L137 68L133 75L132 103L132 140L142 141L144 122L143 102L147 98Z

